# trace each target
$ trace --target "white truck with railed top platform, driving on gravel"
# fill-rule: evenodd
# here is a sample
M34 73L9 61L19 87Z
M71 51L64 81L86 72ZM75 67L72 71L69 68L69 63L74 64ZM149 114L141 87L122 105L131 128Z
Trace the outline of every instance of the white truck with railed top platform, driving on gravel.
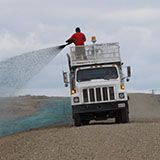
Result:
M69 80L63 72L65 86L70 84L72 115L75 126L91 120L115 118L116 123L129 122L128 96L122 72L119 43L71 47L68 56Z

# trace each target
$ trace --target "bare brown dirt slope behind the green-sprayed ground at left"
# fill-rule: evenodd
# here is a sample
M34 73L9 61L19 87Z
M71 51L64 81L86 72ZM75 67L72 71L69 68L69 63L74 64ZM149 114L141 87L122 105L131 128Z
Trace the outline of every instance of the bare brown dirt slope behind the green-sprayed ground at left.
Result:
M38 109L38 106L47 99L47 97L42 96L0 98L0 119L15 119L31 115Z

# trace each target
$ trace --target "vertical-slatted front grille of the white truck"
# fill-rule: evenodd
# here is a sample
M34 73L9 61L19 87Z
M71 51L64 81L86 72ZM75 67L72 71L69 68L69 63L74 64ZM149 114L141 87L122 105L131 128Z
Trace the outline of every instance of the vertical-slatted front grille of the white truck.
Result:
M115 99L114 87L99 87L83 89L84 102L101 102Z

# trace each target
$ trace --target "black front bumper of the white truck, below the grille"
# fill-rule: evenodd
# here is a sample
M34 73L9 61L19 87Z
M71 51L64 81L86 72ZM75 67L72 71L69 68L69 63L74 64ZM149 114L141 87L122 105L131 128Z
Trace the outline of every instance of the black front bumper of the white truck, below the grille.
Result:
M109 112L114 110L120 110L122 108L128 108L127 101L116 101L108 103L96 103L96 104L82 104L73 105L72 112L76 113L97 113L97 112Z

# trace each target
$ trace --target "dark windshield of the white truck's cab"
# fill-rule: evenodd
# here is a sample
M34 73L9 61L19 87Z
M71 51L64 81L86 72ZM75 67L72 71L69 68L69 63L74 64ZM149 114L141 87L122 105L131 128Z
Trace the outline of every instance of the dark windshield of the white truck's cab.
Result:
M77 81L90 81L94 79L117 79L118 73L116 67L90 68L77 72Z

